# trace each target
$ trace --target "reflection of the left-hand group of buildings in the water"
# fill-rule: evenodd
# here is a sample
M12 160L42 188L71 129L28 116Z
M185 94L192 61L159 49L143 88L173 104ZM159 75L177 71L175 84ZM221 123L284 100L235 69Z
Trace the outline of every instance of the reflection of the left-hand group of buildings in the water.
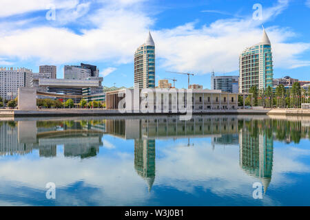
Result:
M103 132L93 130L88 122L2 122L0 155L25 155L39 149L40 157L56 157L56 146L63 145L65 157L94 157L103 145L102 137Z

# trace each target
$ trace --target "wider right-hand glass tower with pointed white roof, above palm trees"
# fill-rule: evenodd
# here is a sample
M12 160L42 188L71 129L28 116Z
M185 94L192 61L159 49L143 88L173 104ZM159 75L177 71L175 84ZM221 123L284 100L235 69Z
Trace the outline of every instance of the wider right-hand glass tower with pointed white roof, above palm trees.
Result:
M260 43L245 49L239 57L239 91L249 92L251 87L272 87L273 62L271 43L265 28Z

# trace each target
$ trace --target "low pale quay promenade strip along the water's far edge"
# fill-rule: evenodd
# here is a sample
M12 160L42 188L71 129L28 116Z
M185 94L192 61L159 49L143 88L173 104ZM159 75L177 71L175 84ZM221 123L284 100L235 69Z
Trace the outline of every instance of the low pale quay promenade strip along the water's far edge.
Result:
M180 115L182 113L143 113L139 111L127 111L105 109L37 109L23 111L17 109L0 109L0 117L59 117L59 116L87 116L87 115ZM307 115L310 109L216 109L205 111L193 111L194 115Z

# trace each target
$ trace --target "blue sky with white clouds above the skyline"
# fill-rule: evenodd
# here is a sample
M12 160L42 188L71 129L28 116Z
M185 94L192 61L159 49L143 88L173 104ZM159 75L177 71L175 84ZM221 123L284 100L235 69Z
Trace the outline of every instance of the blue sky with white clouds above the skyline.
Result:
M261 9L261 10L260 10ZM156 84L176 78L210 88L216 76L238 75L239 54L271 41L273 77L310 80L310 0L1 0L0 67L97 65L103 85L134 85L134 52L151 31ZM171 82L172 83L172 82Z

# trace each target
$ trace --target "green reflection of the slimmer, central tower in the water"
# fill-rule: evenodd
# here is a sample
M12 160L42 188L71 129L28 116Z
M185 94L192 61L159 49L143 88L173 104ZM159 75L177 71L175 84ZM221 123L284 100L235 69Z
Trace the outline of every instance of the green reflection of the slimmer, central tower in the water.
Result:
M134 168L150 192L155 180L155 140L134 140Z

